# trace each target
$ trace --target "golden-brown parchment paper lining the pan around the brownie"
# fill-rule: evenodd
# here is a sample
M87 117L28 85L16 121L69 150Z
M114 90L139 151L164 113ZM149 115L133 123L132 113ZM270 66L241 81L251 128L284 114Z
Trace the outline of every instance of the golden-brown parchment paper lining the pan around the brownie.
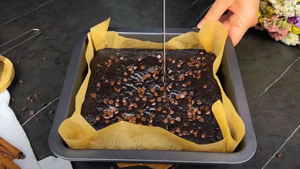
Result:
M217 21L206 21L199 33L188 32L166 43L166 48L205 49L216 55L213 65L214 78L221 89L223 104L220 100L212 106L223 134L223 140L198 145L184 140L163 128L149 127L120 121L96 131L80 115L88 80L91 74L89 64L94 51L104 48L163 49L163 44L137 39L124 38L116 32L108 32L110 19L91 28L88 33L88 46L85 54L88 74L76 95L76 110L72 117L62 122L58 132L64 141L74 149L147 149L147 150L185 150L203 152L233 152L245 134L244 123L236 113L232 103L224 93L220 81L215 75L222 59L227 31ZM182 112L185 113L185 112ZM151 137L149 137L151 136Z

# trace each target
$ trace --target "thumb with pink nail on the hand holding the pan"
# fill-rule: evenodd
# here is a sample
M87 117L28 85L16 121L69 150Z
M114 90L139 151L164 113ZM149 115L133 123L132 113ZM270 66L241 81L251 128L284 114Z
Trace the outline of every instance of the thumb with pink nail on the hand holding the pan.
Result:
M230 0L216 0L197 27L201 29L203 22L206 20L219 20L231 4Z

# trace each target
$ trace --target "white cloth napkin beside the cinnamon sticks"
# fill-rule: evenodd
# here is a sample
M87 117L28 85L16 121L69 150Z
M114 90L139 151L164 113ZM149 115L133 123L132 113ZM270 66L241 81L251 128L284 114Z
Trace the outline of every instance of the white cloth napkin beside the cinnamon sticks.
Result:
M51 156L37 161L26 133L16 119L13 110L8 106L9 100L10 95L7 90L0 93L0 137L26 155L25 159L14 159L13 162L22 169L72 169L70 161L61 158Z

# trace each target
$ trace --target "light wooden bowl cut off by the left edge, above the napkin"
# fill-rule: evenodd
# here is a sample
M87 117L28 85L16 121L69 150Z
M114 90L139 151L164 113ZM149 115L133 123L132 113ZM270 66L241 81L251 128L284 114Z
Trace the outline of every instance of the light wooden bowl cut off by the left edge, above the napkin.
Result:
M0 55L0 93L2 93L13 81L15 69L6 57Z

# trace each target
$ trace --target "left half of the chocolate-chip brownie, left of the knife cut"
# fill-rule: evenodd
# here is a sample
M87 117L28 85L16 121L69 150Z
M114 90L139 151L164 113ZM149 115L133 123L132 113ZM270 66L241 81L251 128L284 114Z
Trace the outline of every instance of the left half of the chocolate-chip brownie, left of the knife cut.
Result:
M96 130L121 120L166 129L161 55L153 49L95 52L81 115Z

